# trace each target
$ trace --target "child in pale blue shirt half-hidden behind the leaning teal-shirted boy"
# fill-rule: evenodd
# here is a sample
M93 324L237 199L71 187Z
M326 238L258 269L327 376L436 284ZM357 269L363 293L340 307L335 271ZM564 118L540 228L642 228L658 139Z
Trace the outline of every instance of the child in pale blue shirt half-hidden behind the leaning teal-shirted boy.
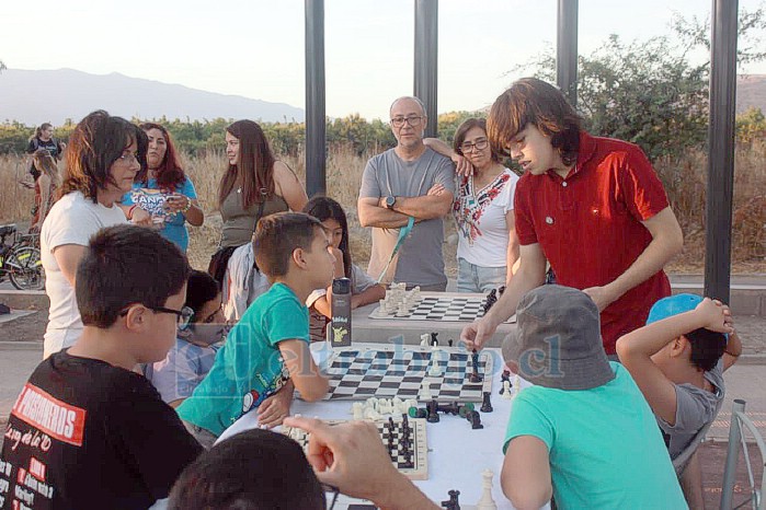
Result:
M171 407L178 407L205 379L229 331L220 288L207 273L193 270L188 276L184 308L192 315L188 324L179 326L175 345L162 361L144 368L144 375Z

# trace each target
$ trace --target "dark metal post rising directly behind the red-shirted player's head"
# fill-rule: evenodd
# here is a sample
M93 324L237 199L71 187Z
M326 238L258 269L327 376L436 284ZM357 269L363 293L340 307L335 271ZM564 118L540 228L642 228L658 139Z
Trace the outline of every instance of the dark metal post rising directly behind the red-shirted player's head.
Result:
M559 0L556 32L556 84L578 106L578 0Z

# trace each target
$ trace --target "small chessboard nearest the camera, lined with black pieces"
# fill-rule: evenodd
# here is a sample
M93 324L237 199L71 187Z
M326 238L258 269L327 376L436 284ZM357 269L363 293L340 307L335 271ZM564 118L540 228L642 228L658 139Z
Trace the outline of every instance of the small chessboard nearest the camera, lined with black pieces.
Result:
M328 420L327 422L338 425L344 420ZM428 479L425 419L402 415L398 418L379 419L373 422L378 428L380 440L395 467L410 479ZM282 433L297 441L304 450L308 449L309 434L305 430L282 427Z

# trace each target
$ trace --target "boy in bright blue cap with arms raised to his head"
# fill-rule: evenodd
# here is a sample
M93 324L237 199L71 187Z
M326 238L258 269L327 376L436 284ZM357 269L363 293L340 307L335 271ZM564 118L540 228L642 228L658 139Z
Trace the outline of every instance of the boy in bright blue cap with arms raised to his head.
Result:
M716 418L724 394L723 371L741 352L729 306L695 294L661 299L644 327L617 340L617 355L654 412L671 459ZM696 461L690 465L699 478ZM682 485L694 508L701 498L701 478L697 484L690 477L685 473Z

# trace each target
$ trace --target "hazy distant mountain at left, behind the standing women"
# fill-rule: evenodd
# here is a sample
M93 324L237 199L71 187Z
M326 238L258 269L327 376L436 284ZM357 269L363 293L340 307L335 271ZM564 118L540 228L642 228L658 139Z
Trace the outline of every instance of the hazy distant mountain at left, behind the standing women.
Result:
M0 74L0 121L61 125L66 118L78 121L100 108L126 118L164 115L169 119L222 117L302 121L305 116L301 108L284 103L216 94L117 72L101 76L73 69L8 69Z

